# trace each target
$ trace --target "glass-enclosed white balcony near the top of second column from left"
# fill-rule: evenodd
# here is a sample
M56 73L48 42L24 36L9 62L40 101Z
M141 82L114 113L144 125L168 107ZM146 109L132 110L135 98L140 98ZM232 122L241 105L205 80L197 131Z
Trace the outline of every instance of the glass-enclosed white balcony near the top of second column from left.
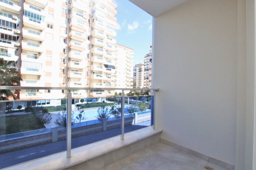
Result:
M43 16L41 16L44 18ZM32 17L28 17L23 15L23 25L31 28L35 28L38 30L44 30L45 28L45 22L44 19L36 19Z

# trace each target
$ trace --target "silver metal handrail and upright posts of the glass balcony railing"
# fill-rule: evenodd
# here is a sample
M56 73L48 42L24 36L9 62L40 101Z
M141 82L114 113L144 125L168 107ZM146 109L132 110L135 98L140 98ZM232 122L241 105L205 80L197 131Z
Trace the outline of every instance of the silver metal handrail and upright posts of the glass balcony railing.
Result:
M66 143L67 143L67 158L70 158L71 157L71 128L72 128L72 122L71 122L71 118L72 118L72 93L71 91L74 91L74 90L121 90L121 97L120 98L120 101L121 101L121 135L120 135L120 138L121 140L124 140L124 118L125 117L129 117L131 115L124 115L124 103L125 103L125 96L124 96L124 91L151 91L151 110L153 114L151 114L151 125L152 125L152 128L155 129L155 126L154 126L154 93L156 91L158 91L159 89L140 89L140 88L82 88L82 87L28 87L28 86L24 86L24 87L21 87L21 86L0 86L0 90L12 90L12 89L15 89L15 90L26 90L26 89L30 89L30 90L38 90L38 89L41 89L41 90L67 90L68 93L67 93L67 98L66 98L66 107L67 107L67 125L66 125ZM44 100L44 99L40 99L40 100ZM14 100L12 100L14 101ZM17 101L17 100L15 100ZM20 100L22 101L22 100ZM1 102L5 102L5 101L0 101L0 104ZM113 120L113 119L117 119L117 118L110 118L110 120ZM110 121L109 120L109 121ZM99 122L99 120L94 120L92 122L86 122L86 124L93 124L93 123L96 123ZM82 124L84 124L84 122L82 122ZM77 126L77 125L76 125ZM46 130L48 131L48 130ZM35 131L35 132L24 132L23 134L20 134L20 135L25 135L25 133L27 133L27 135L30 133L30 134L34 134L34 133L39 133L39 130Z

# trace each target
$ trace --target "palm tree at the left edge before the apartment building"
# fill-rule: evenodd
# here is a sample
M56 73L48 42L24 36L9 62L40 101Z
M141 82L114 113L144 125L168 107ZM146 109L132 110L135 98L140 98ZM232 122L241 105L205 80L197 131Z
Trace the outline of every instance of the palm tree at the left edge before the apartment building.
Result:
M0 85L4 86L20 86L22 81L20 72L11 65L15 61L4 61L0 58ZM8 97L13 97L14 100L17 97L11 92L11 90L0 90L0 100L8 100Z

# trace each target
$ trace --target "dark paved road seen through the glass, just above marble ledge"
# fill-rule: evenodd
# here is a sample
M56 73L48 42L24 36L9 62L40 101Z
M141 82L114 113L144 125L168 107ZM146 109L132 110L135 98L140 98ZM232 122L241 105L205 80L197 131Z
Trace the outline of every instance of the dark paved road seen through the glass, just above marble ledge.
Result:
M124 133L141 129L147 126L144 125L130 125L124 127ZM83 146L86 144L91 144L103 139L114 137L121 134L121 129L111 129L107 131L102 131L98 133L93 133L89 135L84 135L80 137L75 137L71 139L72 148ZM30 148L25 148L13 152L0 154L0 169L16 165L29 160L42 158L54 153L62 152L66 150L66 140L58 141L50 144L43 144L39 146L34 146Z

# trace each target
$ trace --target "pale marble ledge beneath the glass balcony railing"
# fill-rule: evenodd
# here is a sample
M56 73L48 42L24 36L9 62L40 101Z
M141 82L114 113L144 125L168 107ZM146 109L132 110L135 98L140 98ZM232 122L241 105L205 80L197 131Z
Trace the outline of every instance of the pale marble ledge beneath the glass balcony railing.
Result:
M162 132L160 129L146 127L124 134L124 140L120 136L108 138L99 142L74 148L71 150L71 158L66 158L66 152L56 153L44 158L31 160L5 169L65 169L70 166L93 159L105 153L117 150L126 145L135 143L147 137Z

